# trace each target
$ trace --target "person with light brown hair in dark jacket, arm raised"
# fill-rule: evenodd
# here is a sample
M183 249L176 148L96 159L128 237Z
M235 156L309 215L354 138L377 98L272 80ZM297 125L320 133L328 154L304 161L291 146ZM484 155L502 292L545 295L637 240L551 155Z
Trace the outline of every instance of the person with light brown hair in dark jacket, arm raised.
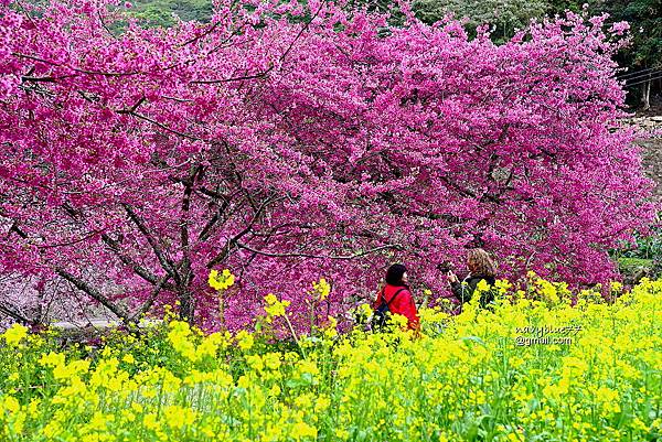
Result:
M467 256L467 267L469 274L460 282L458 277L452 272L448 272L448 282L452 294L460 301L460 304L469 302L478 283L484 280L489 285L494 287L496 272L494 261L483 249L471 249ZM490 302L494 301L493 290L488 290L481 293L479 304L481 308L487 308Z

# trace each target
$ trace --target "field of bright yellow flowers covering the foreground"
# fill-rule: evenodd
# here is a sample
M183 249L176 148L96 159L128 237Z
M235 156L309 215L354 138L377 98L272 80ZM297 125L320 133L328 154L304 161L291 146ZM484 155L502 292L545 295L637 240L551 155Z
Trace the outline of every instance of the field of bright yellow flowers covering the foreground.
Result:
M423 310L418 336L330 321L274 342L170 321L96 351L14 325L0 335L0 440L661 440L662 281L574 306L564 284L498 287L493 312ZM265 306L265 325L287 317Z

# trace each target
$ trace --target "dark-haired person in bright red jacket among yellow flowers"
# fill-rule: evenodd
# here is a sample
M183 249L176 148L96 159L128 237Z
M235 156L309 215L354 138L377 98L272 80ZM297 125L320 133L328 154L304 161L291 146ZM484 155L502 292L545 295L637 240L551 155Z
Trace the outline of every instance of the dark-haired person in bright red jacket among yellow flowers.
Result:
M402 314L408 320L410 330L419 328L418 313L409 285L407 285L407 268L402 263L394 263L386 270L386 285L380 290L373 309L377 309L382 302L388 304L392 314Z

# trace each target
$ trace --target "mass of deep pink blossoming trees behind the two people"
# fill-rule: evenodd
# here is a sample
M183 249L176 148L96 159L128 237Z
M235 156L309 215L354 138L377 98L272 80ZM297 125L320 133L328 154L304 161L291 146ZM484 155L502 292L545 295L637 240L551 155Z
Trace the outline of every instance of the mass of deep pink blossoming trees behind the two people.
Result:
M393 261L444 295L437 265L472 246L504 277L615 277L607 250L654 212L619 125L622 26L569 14L494 45L341 7L221 0L142 29L116 3L3 0L0 272L214 326L206 276L228 268L229 327L269 292L303 324L320 277L318 313L341 312ZM0 312L33 320L19 298Z

